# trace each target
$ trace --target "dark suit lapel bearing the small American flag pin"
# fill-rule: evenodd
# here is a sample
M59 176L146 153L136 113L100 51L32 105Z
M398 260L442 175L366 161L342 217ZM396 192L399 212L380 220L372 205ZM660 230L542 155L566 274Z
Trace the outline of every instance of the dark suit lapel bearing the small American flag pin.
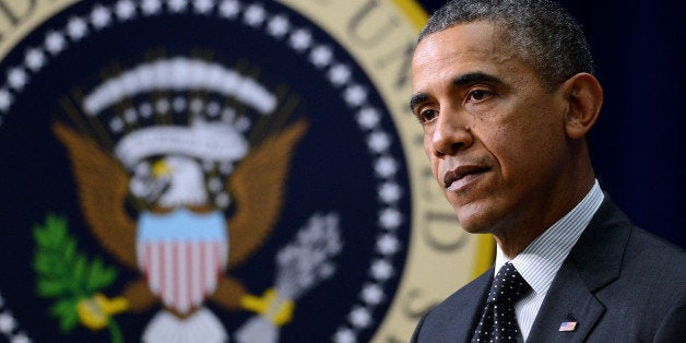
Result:
M579 241L557 272L529 334L530 342L582 342L604 306L594 293L619 276L629 238L628 218L605 196ZM573 331L559 331L576 321Z

